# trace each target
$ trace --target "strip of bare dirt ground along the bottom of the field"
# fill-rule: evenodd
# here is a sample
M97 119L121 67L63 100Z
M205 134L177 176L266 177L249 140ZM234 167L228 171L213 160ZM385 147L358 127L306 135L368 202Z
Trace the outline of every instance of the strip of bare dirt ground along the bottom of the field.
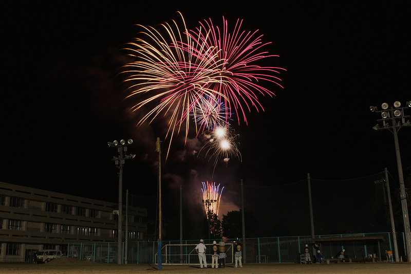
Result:
M2 274L139 274L139 273L315 273L315 274L410 274L411 263L331 263L331 264L245 264L242 268L226 265L226 268L201 269L199 265L162 265L158 270L157 265L150 264L104 264L89 261L80 261L72 258L55 259L47 264L29 263L0 263Z

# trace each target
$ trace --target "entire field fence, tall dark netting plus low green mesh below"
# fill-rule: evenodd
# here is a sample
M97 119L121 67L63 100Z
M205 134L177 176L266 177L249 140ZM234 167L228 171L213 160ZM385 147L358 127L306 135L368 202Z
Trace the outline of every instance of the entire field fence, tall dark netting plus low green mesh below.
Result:
M393 235L388 232L391 231L391 223L383 179L385 173L381 172L347 180L307 178L278 186L242 185L245 212L251 212L255 216L253 222L258 223L250 226L250 220L245 220L243 260L247 263L299 262L305 244L310 245L312 251L321 249L328 259L345 249L346 255L352 259L378 257L378 260L388 260L385 251L393 250ZM389 179L391 196L399 196L396 193L397 183L391 176ZM230 191L236 193L230 197L230 203L238 210L241 208L241 186L231 187ZM230 191L225 192L222 199L227 198ZM222 201L223 203L225 202ZM155 196L130 195L129 204L147 208L148 216L158 216L158 200ZM398 208L399 205L399 200L394 199L393 207ZM203 238L206 245L210 245L213 240L221 240L210 239L210 235L207 239L207 221L200 193L185 189L166 193L162 196L162 207L164 216L168 216L162 217L163 263L198 263L194 251L198 239ZM179 216L182 218L181 230ZM395 218L398 232L401 231L403 220L401 214ZM148 224L145 240L129 239L127 248L123 243L123 262L127 258L128 263L157 263L158 222L157 218ZM311 226L314 235L311 235ZM241 239L241 228L238 231L237 237ZM179 239L180 232L183 239L181 242L164 241ZM396 236L399 256L404 259L404 233L398 232ZM313 246L312 238L320 239L321 247ZM234 239L225 241L230 244ZM76 250L71 252L71 257L76 253L79 259L117 262L117 243L76 243L70 244L68 249ZM207 260L211 262L210 252ZM226 260L227 263L233 261L230 252Z

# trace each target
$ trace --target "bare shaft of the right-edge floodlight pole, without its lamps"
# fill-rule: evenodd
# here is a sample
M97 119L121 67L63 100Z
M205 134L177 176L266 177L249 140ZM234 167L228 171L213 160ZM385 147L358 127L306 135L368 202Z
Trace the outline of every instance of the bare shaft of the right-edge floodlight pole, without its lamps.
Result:
M398 167L398 176L400 179L400 192L401 192L401 205L402 205L402 215L404 217L404 231L405 231L405 240L407 242L407 262L411 262L411 231L409 228L409 216L407 209L407 200L404 187L404 177L402 174L402 164L400 156L400 146L398 144L398 134L397 134L397 125L393 117L393 133L394 133L394 143L395 143L395 152L397 155L397 167Z

